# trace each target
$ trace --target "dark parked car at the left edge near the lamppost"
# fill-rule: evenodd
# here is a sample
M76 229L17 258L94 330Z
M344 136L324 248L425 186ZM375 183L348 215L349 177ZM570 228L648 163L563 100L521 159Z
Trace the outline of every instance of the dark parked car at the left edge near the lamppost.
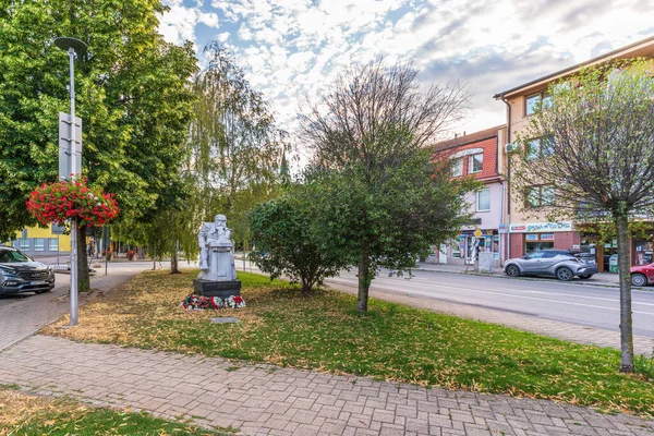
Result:
M0 246L0 294L48 292L55 288L55 272L19 250Z

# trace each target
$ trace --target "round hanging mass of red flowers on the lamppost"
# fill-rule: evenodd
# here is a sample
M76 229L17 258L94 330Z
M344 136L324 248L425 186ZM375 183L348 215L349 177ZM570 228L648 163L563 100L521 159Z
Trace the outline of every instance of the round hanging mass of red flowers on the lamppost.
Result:
M45 226L62 225L70 218L77 218L80 226L111 221L119 213L113 194L105 194L101 189L86 183L83 178L44 183L29 195L27 210Z

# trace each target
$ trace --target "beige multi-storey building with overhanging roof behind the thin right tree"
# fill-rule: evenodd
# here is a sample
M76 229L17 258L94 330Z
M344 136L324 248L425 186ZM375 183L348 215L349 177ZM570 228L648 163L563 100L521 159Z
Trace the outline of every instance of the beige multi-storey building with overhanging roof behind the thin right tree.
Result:
M578 231L579 226L576 226L574 222L552 222L543 214L538 215L537 210L525 214L523 205L518 203L520 202L519 197L514 195L514 192L510 192L510 164L507 160L507 144L513 147L524 146L524 144L517 144L514 138L526 128L530 116L534 112L537 102L547 98L547 89L554 82L579 72L583 66L637 57L654 58L654 37L512 87L494 96L495 99L506 105L507 113L507 137L506 142L498 148L498 158L506 166L506 169L504 166L500 168L500 172L506 174L508 180L508 195L505 198L505 220L508 229L507 257L519 257L538 249L583 250L596 255L600 270L605 268L608 256L615 252L615 240L594 240L591 235ZM549 193L545 187L537 192L534 198L535 204L531 202L530 206L537 207L538 202L550 201ZM652 242L652 238L632 240L632 264L651 262Z

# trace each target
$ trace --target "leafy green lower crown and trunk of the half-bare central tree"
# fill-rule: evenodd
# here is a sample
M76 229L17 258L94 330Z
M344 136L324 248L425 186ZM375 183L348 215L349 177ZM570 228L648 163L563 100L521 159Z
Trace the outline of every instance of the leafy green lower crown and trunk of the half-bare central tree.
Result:
M359 311L367 311L382 268L410 272L435 241L453 238L470 222L464 196L477 185L450 173L449 164L434 162L428 149L405 153L379 172L361 164L307 172L314 238L340 265L356 266Z

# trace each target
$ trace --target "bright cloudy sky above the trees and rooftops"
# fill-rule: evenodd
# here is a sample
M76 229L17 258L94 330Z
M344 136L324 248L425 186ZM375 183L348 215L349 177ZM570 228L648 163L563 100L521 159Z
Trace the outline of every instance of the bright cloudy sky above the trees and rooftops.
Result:
M654 35L654 0L166 0L167 40L217 39L292 130L351 62L414 59L426 82L467 83L456 131L505 122L493 95ZM455 132L451 132L453 136Z

